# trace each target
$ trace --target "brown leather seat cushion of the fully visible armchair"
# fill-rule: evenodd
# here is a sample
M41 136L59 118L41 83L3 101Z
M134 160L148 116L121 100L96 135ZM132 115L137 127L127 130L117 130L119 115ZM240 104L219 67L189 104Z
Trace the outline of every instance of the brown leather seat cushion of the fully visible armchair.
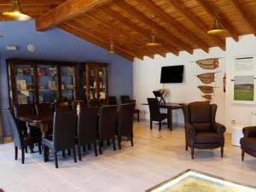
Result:
M220 137L218 133L215 132L197 132L195 133L195 143L220 143Z

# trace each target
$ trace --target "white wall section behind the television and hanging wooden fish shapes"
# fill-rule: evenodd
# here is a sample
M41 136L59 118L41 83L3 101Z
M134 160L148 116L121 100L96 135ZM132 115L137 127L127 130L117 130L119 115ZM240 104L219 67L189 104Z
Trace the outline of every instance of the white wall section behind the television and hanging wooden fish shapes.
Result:
M214 55L214 56L212 56ZM207 59L212 57L224 57L225 52L218 48L212 48L210 54L201 49L196 49L193 55L187 52L180 54L167 54L166 58L155 55L154 59L144 57L144 60L136 59L133 64L133 93L137 101L137 108L144 111L143 118L149 119L148 106L142 106L141 103L147 102L148 97L154 97L153 90L163 87L160 84L160 70L163 66L184 65L184 79L182 84L164 84L164 88L169 90L166 96L166 102L195 102L203 101L201 90L197 88L200 81L195 77L199 73L211 72L211 70L201 70L195 62L199 59ZM220 123L225 122L224 112L224 92L223 92L223 76L225 70L225 59L221 59L220 67L214 71L216 73L216 83L212 84L218 88L215 89L213 102L218 104L217 120ZM183 124L182 110L175 110L172 113L173 121L177 124Z

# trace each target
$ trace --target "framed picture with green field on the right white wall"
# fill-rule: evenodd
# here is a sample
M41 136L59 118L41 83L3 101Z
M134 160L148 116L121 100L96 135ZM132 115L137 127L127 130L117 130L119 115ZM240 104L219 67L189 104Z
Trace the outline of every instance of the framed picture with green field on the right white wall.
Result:
M234 61L232 96L234 103L256 104L255 56L236 57Z

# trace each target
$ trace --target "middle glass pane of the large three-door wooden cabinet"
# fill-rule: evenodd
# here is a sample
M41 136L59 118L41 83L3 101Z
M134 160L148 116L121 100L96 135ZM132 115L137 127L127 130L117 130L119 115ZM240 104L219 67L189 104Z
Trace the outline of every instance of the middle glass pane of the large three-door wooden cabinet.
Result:
M38 65L38 93L40 103L57 102L57 67Z

